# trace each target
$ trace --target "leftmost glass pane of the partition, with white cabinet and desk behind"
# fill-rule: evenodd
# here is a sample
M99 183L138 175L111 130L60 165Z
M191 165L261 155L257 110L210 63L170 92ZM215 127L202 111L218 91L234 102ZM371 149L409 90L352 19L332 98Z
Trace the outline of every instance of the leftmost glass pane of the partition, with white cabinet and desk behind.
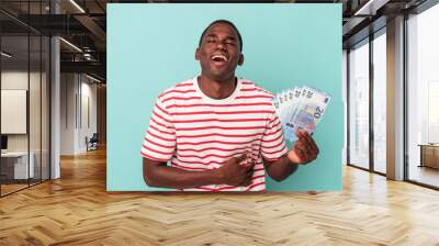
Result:
M27 46L27 35L1 37L1 195L26 188L33 172L29 165L33 157L29 155Z

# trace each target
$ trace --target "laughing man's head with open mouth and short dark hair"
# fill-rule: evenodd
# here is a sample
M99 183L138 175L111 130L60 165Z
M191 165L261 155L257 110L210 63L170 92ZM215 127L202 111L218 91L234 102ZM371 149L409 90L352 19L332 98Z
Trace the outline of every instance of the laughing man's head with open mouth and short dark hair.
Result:
M239 45L238 33L230 25L219 22L209 27L195 52L202 75L219 81L234 78L236 67L244 63Z

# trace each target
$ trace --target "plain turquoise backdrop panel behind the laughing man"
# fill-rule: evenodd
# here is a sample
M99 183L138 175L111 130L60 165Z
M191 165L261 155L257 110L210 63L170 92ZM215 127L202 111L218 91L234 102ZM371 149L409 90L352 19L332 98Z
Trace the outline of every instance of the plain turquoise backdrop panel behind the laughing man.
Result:
M308 85L333 96L315 131L320 154L267 190L340 190L341 4L108 4L109 191L149 188L140 145L157 96L200 72L194 58L203 30L214 20L236 24L245 62L236 75L272 92Z

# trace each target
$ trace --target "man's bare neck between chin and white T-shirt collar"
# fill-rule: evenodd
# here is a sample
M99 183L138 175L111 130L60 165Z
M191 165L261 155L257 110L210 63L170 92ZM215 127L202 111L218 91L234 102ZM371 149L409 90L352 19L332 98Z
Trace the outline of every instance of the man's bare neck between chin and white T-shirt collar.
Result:
M228 98L235 90L235 76L224 80L216 80L201 75L198 77L198 82L201 91L213 99Z

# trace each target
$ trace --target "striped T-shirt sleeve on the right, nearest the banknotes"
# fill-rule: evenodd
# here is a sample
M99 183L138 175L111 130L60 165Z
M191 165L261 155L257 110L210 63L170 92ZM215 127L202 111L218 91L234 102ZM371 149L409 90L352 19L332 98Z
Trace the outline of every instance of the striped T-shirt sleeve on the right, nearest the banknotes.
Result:
M288 148L283 137L281 121L275 112L273 112L262 135L261 154L264 159L275 161L286 153Z

